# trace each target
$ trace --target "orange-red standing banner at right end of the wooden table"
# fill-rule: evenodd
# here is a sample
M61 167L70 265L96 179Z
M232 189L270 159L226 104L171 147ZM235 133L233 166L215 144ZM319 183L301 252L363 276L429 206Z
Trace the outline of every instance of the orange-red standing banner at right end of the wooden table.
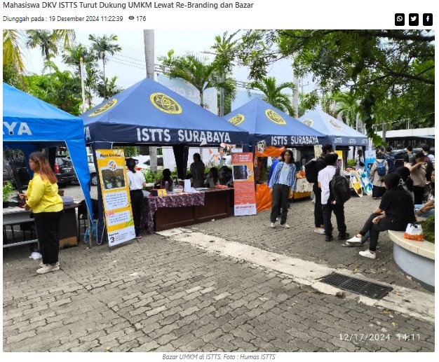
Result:
M255 173L250 152L232 153L235 216L256 215Z

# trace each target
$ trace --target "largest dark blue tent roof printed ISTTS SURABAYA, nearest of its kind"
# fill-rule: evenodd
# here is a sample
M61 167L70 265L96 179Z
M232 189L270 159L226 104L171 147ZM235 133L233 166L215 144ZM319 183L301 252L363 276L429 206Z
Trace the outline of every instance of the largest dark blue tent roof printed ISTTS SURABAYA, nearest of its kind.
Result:
M90 143L248 144L247 132L149 78L83 113L81 118Z

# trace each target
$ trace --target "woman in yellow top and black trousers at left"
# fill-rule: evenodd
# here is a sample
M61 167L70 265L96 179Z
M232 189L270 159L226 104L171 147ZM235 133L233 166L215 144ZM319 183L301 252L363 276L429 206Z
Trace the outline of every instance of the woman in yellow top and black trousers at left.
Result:
M43 256L41 268L36 272L45 274L60 270L58 253L62 198L58 195L57 179L44 153L31 153L29 167L34 172L34 178L29 182L27 193L20 194L20 198L26 200L25 209L32 209L34 213L36 234Z

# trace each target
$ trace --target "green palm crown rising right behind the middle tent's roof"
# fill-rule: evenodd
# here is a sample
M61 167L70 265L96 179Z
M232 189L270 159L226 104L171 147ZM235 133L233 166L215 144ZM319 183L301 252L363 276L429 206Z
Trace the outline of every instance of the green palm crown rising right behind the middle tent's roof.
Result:
M290 89L295 92L296 87L294 83L283 82L276 85L276 78L268 77L263 78L262 81L259 82L251 82L250 87L262 91L262 93L264 93L262 99L271 104L271 106L288 113L290 116L294 116L295 111L292 109L290 96L282 92L284 89Z

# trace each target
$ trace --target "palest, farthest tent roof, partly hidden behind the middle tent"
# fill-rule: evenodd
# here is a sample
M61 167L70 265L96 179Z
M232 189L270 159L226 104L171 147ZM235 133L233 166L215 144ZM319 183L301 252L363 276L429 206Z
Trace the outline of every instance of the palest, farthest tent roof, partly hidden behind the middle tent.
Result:
M334 146L362 146L368 143L364 134L320 109L307 111L299 120L314 130L327 134Z

